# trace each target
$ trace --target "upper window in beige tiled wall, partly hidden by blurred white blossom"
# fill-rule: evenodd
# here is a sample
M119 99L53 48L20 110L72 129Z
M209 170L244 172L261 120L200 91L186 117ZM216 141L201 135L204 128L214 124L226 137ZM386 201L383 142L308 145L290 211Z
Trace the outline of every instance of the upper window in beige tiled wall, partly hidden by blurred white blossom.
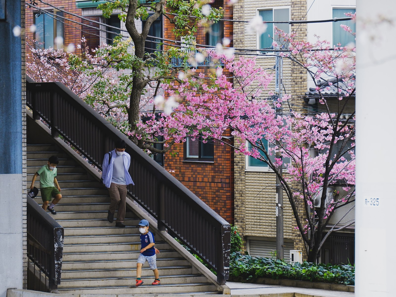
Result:
M290 21L290 8L273 8L273 9L265 9L259 10L259 15L263 17L263 21L266 22L283 22L283 21ZM259 37L259 47L261 49L270 48L272 42L277 41L278 44L282 44L279 39L279 35L275 34L275 27L281 29L287 34L290 34L290 25L284 23L270 23L267 26L267 30L260 35ZM270 37L268 37L268 35Z

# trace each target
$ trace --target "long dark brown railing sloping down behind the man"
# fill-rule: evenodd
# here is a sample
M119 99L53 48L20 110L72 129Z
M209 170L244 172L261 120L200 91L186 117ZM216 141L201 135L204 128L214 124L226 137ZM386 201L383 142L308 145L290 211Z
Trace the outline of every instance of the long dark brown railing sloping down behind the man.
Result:
M97 167L116 139L126 141L135 183L128 186L129 197L157 219L160 230L168 229L199 255L224 284L230 261L227 221L63 84L27 81L27 105L34 118L44 119L53 136L63 136Z

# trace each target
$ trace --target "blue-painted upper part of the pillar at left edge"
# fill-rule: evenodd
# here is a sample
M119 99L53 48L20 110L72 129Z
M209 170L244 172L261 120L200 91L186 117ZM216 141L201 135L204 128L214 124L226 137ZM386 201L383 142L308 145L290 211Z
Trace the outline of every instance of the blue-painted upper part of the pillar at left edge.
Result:
M22 173L22 51L15 26L21 26L21 2L8 0L0 20L0 174Z

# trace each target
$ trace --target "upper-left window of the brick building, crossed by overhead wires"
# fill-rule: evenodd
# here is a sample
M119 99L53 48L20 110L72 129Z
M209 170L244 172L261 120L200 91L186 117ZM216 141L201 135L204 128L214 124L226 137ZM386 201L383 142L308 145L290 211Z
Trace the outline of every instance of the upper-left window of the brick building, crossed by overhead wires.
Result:
M48 11L47 13L34 13L34 25L36 25L36 31L34 32L34 39L36 40L36 48L44 47L49 49L61 49L63 47L64 40L64 24L63 24L63 11ZM55 15L52 15L53 13ZM59 18L58 18L59 16ZM62 40L60 42L54 42L55 38Z

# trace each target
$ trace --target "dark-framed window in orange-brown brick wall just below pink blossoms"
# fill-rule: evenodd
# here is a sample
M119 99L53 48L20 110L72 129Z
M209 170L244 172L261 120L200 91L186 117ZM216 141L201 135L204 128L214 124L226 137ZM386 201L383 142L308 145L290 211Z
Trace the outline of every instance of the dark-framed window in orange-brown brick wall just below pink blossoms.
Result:
M204 143L202 137L195 140L188 137L185 142L185 160L213 161L214 147L213 140Z

